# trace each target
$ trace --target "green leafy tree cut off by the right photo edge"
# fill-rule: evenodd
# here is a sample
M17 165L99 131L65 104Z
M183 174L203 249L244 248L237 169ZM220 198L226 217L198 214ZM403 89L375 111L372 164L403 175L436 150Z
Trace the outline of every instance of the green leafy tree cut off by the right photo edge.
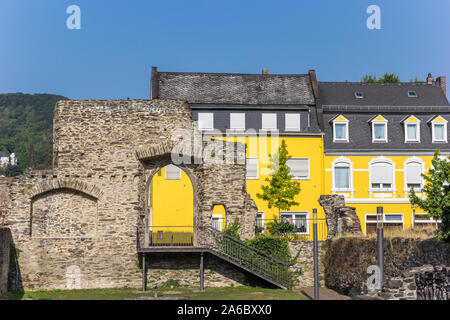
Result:
M441 159L440 154L437 149L431 161L432 168L423 175L425 186L422 191L426 195L425 199L417 197L413 189L409 198L412 204L426 211L430 217L442 221L439 239L450 242L450 157Z

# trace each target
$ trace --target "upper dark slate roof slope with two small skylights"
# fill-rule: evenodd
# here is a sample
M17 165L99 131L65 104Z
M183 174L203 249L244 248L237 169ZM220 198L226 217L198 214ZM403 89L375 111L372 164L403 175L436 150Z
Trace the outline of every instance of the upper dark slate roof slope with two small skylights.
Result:
M408 97L415 91L417 97ZM362 92L363 98L356 98ZM319 96L325 105L358 106L448 106L449 102L437 85L420 83L319 82Z

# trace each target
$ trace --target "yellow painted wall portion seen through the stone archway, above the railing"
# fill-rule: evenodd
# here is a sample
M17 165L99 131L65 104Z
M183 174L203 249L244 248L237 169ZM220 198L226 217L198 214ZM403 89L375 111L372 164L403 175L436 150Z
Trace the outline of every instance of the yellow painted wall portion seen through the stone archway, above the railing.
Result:
M150 184L149 207L152 212L150 226L193 226L194 190L189 176L181 170L181 179L167 180L166 167L162 168ZM172 228L176 231L185 229Z

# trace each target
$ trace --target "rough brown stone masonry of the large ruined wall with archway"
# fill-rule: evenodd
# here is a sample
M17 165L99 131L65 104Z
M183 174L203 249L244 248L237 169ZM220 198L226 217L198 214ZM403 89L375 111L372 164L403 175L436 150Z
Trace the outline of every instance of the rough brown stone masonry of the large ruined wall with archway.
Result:
M0 181L18 283L25 289L139 286L149 179L171 163L178 128L194 130L181 101L58 102L53 170ZM246 192L244 163L180 167L194 187L194 243L217 204L226 208L227 223L243 222L242 238L253 236L257 209Z

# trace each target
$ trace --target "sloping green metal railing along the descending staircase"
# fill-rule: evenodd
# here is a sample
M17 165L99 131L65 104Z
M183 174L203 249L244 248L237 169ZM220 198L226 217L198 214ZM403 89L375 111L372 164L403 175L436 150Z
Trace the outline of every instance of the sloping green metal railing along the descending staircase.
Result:
M200 232L202 245L226 256L252 272L285 288L290 288L291 273L285 262L212 227L203 227Z

